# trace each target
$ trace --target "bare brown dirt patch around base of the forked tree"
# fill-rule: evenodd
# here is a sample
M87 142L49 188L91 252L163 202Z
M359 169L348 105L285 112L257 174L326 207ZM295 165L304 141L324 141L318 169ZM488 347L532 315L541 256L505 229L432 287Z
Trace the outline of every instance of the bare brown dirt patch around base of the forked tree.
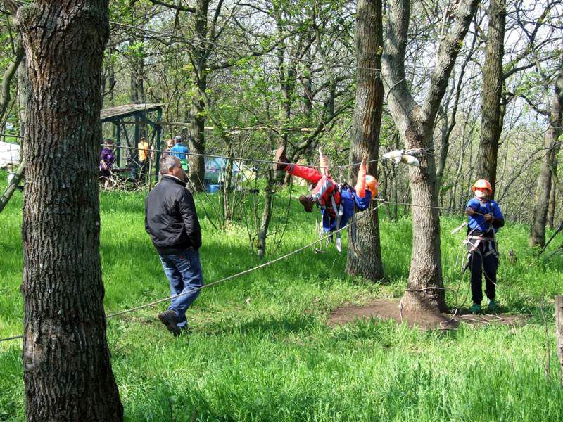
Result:
M453 330L461 323L474 326L485 326L486 324L505 324L510 326L521 326L526 324L528 316L524 315L472 315L467 312L456 314L441 314L421 309L418 312L399 312L398 299L373 300L364 305L344 305L334 309L330 316L328 325L331 327L353 323L357 319L393 319L398 324L405 321L409 326L419 327L423 330Z

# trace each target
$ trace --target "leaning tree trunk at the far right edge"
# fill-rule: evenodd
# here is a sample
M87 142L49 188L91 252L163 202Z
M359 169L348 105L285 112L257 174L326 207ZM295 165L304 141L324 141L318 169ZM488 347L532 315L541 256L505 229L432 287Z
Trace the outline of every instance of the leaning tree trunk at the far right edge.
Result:
M563 112L563 70L555 81L555 95L553 96L550 114L550 127L544 135L543 147L545 153L541 160L538 186L536 188L536 204L533 208L533 221L530 226L530 246L545 245L545 223L548 218L552 170L555 169L557 156L557 141L562 133Z

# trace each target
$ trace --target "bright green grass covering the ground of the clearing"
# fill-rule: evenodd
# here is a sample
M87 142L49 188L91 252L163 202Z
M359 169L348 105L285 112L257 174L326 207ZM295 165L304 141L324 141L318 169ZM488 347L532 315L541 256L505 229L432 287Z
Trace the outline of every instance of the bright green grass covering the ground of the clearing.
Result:
M102 193L101 259L106 309L115 312L168 294L160 262L144 232L143 194ZM197 200L196 200L197 201ZM0 337L22 330L21 193L0 214ZM294 203L279 256L315 238L314 217ZM442 219L448 304L462 220ZM248 253L246 229L215 231L203 219L201 259L210 282L260 263ZM386 279L370 284L343 274L346 255L307 250L241 279L203 290L189 311L194 333L172 338L146 309L108 322L108 341L127 421L561 421L563 389L555 348L552 298L563 290L563 260L538 261L528 229L508 226L501 248L498 298L505 312L529 313L520 328L462 326L422 333L389 321L340 328L330 309L369 298L398 298L410 262L410 221L381 216ZM514 250L516 262L507 260ZM270 255L268 259L272 258ZM0 421L23 421L18 341L0 343Z

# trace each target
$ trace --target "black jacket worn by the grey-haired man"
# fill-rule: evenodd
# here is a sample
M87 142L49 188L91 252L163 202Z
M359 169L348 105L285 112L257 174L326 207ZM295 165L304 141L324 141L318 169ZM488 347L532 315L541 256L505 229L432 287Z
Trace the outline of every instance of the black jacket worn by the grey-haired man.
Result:
M145 229L155 248L163 254L201 246L196 205L183 181L165 175L148 193Z

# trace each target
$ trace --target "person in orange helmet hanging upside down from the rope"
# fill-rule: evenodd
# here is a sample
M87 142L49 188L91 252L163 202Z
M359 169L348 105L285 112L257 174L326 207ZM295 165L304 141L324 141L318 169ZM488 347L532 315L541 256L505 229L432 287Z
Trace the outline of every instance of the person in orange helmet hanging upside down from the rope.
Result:
M348 224L355 210L366 210L372 198L377 196L377 180L366 174L366 164L362 161L358 170L358 181L354 188L346 183L337 184L331 177L327 158L319 148L320 170L289 163L285 147L281 146L274 155L274 170L284 170L292 176L301 177L315 184L311 194L299 197L305 212L312 212L313 204L320 206L322 228L325 233L341 229ZM341 250L340 236L336 234L336 248Z

